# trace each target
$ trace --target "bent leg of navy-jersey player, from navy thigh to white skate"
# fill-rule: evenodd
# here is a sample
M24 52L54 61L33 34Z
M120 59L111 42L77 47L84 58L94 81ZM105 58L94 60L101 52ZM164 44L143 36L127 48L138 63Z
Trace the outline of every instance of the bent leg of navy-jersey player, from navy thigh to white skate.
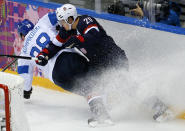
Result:
M92 84L89 83L90 74L87 73L86 64L86 59L77 54L62 53L57 58L53 69L53 81L65 90L87 98L93 116L89 119L89 123L97 122L100 119L102 121L107 120L109 115L104 107L102 98L98 95L91 95Z

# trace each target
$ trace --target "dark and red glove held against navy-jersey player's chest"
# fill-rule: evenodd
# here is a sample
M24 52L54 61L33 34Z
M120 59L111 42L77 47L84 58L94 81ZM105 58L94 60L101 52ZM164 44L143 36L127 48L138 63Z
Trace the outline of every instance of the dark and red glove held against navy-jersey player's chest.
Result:
M63 48L73 48L78 47L80 44L84 43L84 38L81 35L72 36L67 42L63 44Z

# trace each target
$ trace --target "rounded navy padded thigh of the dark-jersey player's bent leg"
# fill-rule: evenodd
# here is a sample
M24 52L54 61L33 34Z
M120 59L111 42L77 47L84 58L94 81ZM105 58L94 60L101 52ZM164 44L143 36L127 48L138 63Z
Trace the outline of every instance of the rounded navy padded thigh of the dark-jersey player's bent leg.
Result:
M52 78L56 85L72 91L76 79L87 72L87 61L76 53L63 52L55 62Z

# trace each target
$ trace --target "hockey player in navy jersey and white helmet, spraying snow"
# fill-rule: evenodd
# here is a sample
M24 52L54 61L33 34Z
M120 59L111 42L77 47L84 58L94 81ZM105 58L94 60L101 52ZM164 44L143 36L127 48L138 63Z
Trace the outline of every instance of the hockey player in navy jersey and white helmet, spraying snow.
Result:
M64 48L73 48L81 52L85 59L76 59L71 53L63 54L62 59L56 61L53 78L57 85L68 91L82 90L81 95L87 98L92 112L92 118L88 120L89 125L96 126L97 123L110 124L111 118L106 111L101 94L93 94L89 77L98 77L105 69L112 67L125 68L128 70L128 59L124 50L117 46L108 36L103 27L91 16L78 16L76 8L71 4L65 4L56 10L59 24L63 26L56 37L55 42L50 43L39 55L37 64L45 65L58 51ZM71 31L76 30L77 34ZM65 34L65 35L64 35ZM64 58L66 57L66 59ZM85 61L84 61L85 60ZM62 65L66 65L62 68ZM80 69L78 72L78 68ZM66 74L65 77L62 74ZM83 82L85 81L85 87ZM82 82L82 83L81 83ZM95 84L95 83L94 83ZM80 89L82 88L82 89ZM157 98L154 100L158 108L154 119L162 121L170 114L168 108ZM160 110L161 109L161 110Z

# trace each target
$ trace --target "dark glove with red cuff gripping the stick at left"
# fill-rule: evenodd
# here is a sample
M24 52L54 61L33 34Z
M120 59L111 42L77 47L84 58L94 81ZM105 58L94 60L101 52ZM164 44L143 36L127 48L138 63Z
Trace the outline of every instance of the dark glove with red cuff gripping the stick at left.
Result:
M44 48L37 56L37 60L35 61L36 64L45 66L48 63L49 60L49 51L48 49Z

